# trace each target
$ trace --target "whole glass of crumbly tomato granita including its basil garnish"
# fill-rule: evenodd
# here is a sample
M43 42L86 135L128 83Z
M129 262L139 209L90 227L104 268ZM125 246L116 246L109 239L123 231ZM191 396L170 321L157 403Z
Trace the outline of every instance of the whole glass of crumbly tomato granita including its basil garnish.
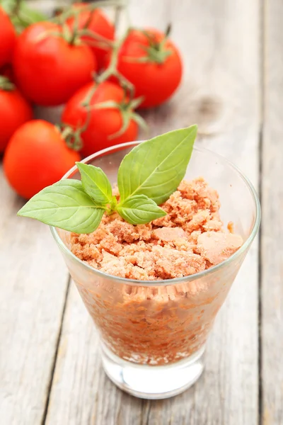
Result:
M260 224L248 179L194 147L196 135L191 125L104 149L18 212L51 226L100 332L105 373L146 399L200 378L214 318Z

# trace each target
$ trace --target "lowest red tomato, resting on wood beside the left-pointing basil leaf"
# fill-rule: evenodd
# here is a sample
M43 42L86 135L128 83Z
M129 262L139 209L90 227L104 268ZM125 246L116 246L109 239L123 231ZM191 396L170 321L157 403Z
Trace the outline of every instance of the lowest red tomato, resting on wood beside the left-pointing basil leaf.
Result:
M61 179L79 160L79 153L67 147L54 125L32 120L18 128L8 142L4 173L12 188L30 199Z

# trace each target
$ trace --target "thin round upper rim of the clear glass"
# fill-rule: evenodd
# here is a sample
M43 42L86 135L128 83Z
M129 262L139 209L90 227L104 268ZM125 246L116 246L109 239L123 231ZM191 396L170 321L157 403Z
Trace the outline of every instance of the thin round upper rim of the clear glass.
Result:
M98 152L95 152L94 154L89 155L88 157L81 160L81 162L86 163L89 162L97 157L100 157L101 154L107 154L109 152L115 152L116 150L120 150L121 148L131 147L134 145L137 145L144 140L135 140L134 142L126 142L126 143L120 143L120 145L115 145L111 147L107 147L105 149L101 149ZM178 283L187 283L192 280L197 280L200 278L203 278L204 276L209 276L209 274L214 273L215 271L220 270L221 268L224 268L225 266L232 263L234 260L238 258L238 256L241 256L241 254L248 249L248 246L253 242L253 239L255 239L255 235L258 232L258 228L260 226L260 217L261 217L261 210L260 210L260 200L258 199L258 194L255 191L255 188L253 186L253 183L251 183L250 179L245 176L241 172L240 169L238 169L238 166L233 164L229 159L226 159L220 154L217 154L216 152L213 152L210 149L200 147L198 145L194 145L193 150L197 150L199 152L208 152L209 154L212 154L214 157L219 158L221 161L224 161L227 165L231 166L232 169L234 169L237 174L241 176L241 179L246 183L248 186L248 189L250 191L251 196L253 197L253 201L255 203L255 222L253 224L253 229L251 229L250 234L248 235L248 238L245 242L243 242L243 245L234 252L231 256L229 256L228 259L221 261L221 263L216 264L216 266L212 266L210 268L207 268L204 271L200 271L198 273L189 275L189 276L183 276L181 278L171 278L171 279L162 279L162 280L137 280L137 279L129 279L129 278L121 278L120 276L114 276L110 275L109 273L105 273L103 271L98 270L97 268L94 268L90 266L88 263L83 262L81 259L79 259L75 254L73 254L70 249L64 244L61 237L59 237L59 234L57 232L57 228L54 226L50 226L52 235L57 242L57 244L62 248L62 250L68 255L71 256L72 259L79 262L83 268L86 268L86 271L91 271L91 273L97 273L98 276L101 276L103 278L107 278L108 280L117 280L120 283L126 283L126 284L132 284L136 286L167 286L167 285L178 285ZM62 177L61 180L68 179L69 176L74 174L75 171L78 170L78 167L74 165L69 171L67 171L66 174ZM67 232L67 231L65 231Z

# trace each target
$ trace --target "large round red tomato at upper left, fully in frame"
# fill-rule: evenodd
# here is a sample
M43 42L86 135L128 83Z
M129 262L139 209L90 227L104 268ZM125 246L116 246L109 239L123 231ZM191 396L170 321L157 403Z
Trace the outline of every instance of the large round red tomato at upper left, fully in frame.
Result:
M42 106L65 103L96 70L90 48L71 44L62 28L49 22L35 23L18 37L13 66L23 94Z

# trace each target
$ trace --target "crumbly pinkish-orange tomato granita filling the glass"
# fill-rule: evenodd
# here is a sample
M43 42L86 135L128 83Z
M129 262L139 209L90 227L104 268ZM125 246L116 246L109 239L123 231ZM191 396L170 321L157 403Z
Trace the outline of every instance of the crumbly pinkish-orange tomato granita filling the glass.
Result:
M179 361L204 346L238 267L225 272L221 288L217 273L174 285L154 281L202 272L243 244L231 223L224 229L218 193L202 178L181 181L160 206L167 215L146 225L131 225L115 212L91 234L62 237L79 259L113 276L86 282L71 273L104 344L120 358L149 365ZM151 284L125 285L115 276Z

